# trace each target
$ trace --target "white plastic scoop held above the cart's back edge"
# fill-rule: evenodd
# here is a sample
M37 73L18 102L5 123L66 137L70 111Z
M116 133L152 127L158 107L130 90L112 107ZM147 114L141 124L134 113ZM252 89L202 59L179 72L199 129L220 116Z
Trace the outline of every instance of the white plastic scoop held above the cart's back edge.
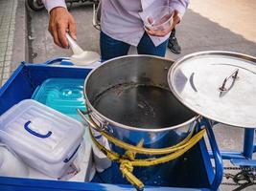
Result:
M99 53L83 51L77 42L66 33L66 37L69 43L70 48L73 51L73 55L70 57L70 60L75 65L89 65L93 64L100 60Z

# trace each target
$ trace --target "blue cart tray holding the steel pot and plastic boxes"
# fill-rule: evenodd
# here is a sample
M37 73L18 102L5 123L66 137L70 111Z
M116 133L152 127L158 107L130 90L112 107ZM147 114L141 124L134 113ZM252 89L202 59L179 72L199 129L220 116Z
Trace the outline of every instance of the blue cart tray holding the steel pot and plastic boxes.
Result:
M60 60L61 61L61 60ZM45 64L22 63L8 82L0 89L0 115L19 101L31 98L36 87L49 78L81 79L90 69L72 66L48 66ZM214 139L215 141L215 139ZM216 142L214 142L216 144ZM218 148L217 148L218 149ZM220 184L220 173L214 173L203 139L183 156L185 162L176 165L170 172L167 187L146 186L147 190L215 190ZM219 159L220 160L220 159ZM217 163L220 162L217 159ZM71 182L55 180L32 180L0 177L0 190L134 190L129 184L103 183L107 171L96 175L94 182ZM123 179L120 176L119 179Z

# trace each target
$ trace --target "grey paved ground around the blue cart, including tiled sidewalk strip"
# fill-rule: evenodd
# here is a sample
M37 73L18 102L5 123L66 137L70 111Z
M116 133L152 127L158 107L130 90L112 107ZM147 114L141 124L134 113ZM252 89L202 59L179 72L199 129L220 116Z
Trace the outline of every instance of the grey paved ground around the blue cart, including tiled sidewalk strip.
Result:
M25 14L24 7L20 2L22 1L17 4L15 0L0 0L0 34L8 31L8 37L2 39L12 39L3 42L3 44L0 42L0 85L1 81L5 82L11 73L11 69L5 69L9 65L12 65L13 70L23 59L32 63L42 63L53 57L70 56L72 54L70 50L60 49L53 43L52 36L47 31L47 11L28 11L28 26L26 28L25 19L22 18L22 15ZM2 5L5 6L5 9ZM6 9L6 7L9 9ZM14 24L13 12L15 8L18 11L16 12L14 29L12 24ZM166 57L175 60L188 53L213 50L256 56L255 10L255 0L191 1L190 9L176 28L176 36L181 45L182 53L174 54L168 50ZM11 13L9 13L10 11ZM71 13L78 24L77 36L81 48L99 53L99 31L92 26L92 5L86 3L74 4ZM11 16L6 17L5 14ZM17 16L18 14L21 16ZM10 18L12 22L2 22L3 17ZM17 22L17 19L20 20ZM4 23L3 26L8 25L9 27L2 27L2 23ZM19 25L19 30L17 30L17 25ZM26 30L28 30L27 33L25 33ZM25 35L28 38L22 37ZM25 39L28 39L28 46ZM13 46L15 42L18 42L18 46ZM27 52L25 53L24 50L27 50ZM136 51L131 48L129 53L136 53ZM10 58L11 55L12 59ZM218 125L214 128L214 131L221 149L242 150L243 129ZM230 165L230 163L225 162L225 165ZM231 190L231 187L221 186L221 189ZM245 190L256 190L256 186L251 186Z

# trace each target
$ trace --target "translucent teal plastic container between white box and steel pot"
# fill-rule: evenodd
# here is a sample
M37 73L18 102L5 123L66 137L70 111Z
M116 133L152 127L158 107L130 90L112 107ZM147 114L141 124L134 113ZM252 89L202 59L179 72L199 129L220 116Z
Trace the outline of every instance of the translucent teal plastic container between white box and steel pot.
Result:
M81 119L77 109L85 110L84 79L49 78L38 86L32 98L69 117Z

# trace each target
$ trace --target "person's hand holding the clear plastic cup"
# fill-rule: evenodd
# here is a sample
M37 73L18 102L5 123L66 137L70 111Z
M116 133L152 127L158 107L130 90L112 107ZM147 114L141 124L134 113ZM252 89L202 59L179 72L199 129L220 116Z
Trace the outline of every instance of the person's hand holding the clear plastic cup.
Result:
M163 18L161 20L166 20L166 17L163 16ZM161 23L161 20L158 22L159 24ZM149 22L152 23L153 21L151 19L149 19ZM180 17L179 17L178 11L174 12L173 20L171 20L170 22L171 22L171 25L167 29L159 29L159 28L151 29L151 28L145 27L145 30L152 36L159 36L159 37L165 36L166 34L171 32L175 28L176 24L178 24L180 22ZM157 23L155 25L157 25Z

